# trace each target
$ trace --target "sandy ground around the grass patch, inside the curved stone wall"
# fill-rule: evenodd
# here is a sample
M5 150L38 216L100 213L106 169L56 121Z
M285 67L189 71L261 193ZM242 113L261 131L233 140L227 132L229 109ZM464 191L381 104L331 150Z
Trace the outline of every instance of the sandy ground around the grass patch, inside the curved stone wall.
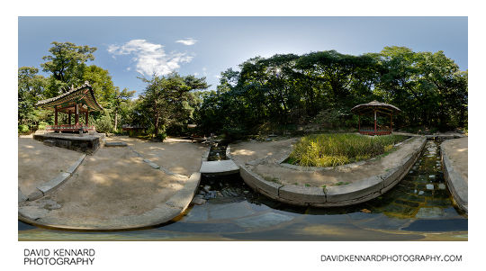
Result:
M292 140L275 142L239 143L231 145L231 155L235 160L249 161L252 159L265 158L284 147L288 147ZM338 167L336 169L321 169L315 171L295 170L282 167L274 162L263 162L253 167L258 175L270 180L273 179L283 185L335 185L338 182L355 181L383 174L387 169L396 167L401 163L413 149L419 148L419 139L412 139L401 144L397 150L383 158L366 160L365 163L358 163L354 167Z

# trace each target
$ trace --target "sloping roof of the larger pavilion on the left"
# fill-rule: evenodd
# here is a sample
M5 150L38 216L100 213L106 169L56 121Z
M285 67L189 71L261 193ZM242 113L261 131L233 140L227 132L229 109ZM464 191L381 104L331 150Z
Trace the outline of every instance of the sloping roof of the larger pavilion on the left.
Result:
M81 112L87 110L87 108L89 108L91 111L103 111L103 107L98 104L94 98L93 88L87 81L85 81L84 85L73 88L67 93L39 101L37 104L35 104L35 106L40 106L43 108L54 108L55 106L58 106L59 112L67 113L69 111L73 111L76 103L85 104L85 108L79 108Z

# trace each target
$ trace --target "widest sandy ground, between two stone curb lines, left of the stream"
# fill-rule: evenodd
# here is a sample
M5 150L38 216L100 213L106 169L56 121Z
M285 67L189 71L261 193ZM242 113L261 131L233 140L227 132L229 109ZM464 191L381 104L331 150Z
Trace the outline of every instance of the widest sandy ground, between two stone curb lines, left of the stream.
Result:
M64 185L28 205L52 209L42 221L65 226L110 225L154 209L184 187L143 162L128 148L102 148L89 156Z

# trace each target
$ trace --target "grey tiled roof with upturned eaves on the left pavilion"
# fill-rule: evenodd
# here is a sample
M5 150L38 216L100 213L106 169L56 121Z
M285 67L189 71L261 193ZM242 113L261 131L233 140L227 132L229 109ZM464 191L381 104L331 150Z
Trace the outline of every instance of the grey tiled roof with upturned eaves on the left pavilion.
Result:
M94 98L93 88L91 87L91 85L89 85L87 81L85 81L85 84L83 84L82 86L77 86L67 93L39 101L37 102L37 104L35 104L35 106L53 108L56 105L74 103L76 100L83 100L91 110L103 111L103 107L98 104L98 102L96 102L96 99Z

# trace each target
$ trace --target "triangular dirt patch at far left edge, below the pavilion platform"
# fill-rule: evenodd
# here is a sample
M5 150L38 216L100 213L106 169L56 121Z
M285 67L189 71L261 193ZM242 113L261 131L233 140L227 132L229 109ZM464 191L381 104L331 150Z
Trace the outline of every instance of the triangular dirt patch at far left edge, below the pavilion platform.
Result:
M82 155L74 150L46 146L31 137L18 140L18 182L25 195L66 171Z

